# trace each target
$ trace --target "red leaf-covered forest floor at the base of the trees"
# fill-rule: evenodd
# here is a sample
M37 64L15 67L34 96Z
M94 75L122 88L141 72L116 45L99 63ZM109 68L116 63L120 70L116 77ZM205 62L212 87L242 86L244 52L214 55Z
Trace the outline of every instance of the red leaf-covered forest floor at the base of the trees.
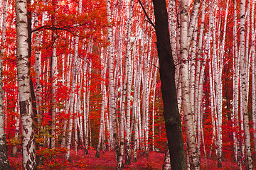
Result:
M65 161L65 154L58 154L55 157L46 157L44 164L38 166L38 169L114 169L115 160L114 152L100 152L100 158L95 158L95 150L89 150L89 154L84 154L83 150L80 150L77 155L75 151L70 152L70 162ZM18 153L18 157L9 157L11 169L22 169L21 166L21 153ZM132 162L131 165L124 165L124 169L162 169L164 162L164 153L149 152L149 157L138 157L137 162ZM207 164L204 159L201 160L201 169L226 169L234 170L238 169L238 165L234 162L223 161L223 167L217 168L217 160L208 159Z

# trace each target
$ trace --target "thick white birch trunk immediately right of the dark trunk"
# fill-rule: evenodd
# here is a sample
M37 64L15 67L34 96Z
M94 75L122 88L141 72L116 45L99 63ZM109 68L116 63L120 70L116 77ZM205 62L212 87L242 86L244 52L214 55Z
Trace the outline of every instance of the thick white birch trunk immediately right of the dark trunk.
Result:
M182 108L185 117L186 143L191 169L200 169L198 154L196 152L196 135L193 127L193 113L189 100L188 77L188 1L181 0L181 82L182 82Z

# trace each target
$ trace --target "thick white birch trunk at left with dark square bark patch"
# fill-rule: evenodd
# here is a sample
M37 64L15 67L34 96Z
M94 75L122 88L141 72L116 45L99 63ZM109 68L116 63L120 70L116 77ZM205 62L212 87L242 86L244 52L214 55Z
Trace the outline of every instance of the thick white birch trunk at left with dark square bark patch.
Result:
M21 111L23 169L36 169L36 144L28 60L27 1L16 0L18 94Z

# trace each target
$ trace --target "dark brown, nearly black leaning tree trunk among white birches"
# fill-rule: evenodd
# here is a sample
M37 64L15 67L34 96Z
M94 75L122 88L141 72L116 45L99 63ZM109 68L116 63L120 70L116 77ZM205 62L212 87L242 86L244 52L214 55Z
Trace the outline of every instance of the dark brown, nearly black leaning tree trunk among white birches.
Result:
M186 157L181 135L181 115L178 112L174 79L175 65L171 54L166 1L153 0L153 4L156 19L156 45L159 55L161 94L164 103L164 120L171 157L171 170L182 170L186 169Z

